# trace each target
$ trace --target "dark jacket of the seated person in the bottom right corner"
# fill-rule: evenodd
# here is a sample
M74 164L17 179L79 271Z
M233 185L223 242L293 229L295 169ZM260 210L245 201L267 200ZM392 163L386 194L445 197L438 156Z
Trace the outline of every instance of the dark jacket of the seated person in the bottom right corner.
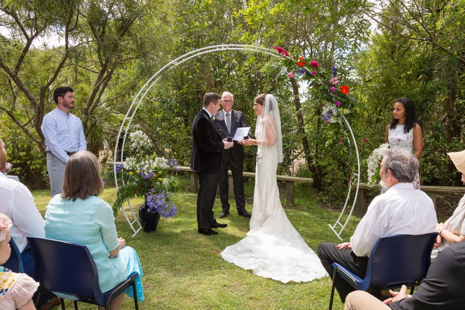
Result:
M411 298L392 302L396 310L465 309L465 241L439 252Z

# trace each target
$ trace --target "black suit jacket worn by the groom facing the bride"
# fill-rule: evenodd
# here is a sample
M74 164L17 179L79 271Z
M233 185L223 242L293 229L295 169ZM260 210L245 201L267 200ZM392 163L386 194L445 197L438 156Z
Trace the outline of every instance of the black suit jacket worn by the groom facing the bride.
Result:
M191 169L198 173L219 172L224 143L218 128L202 109L192 124Z

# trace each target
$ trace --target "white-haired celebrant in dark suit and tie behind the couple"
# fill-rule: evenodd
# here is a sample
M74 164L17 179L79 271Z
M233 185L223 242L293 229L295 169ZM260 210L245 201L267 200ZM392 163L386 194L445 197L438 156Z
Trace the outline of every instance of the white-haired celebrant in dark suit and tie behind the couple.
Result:
M241 127L248 127L244 113L232 110L234 105L234 98L229 91L223 92L221 95L221 106L223 110L215 115L216 124L221 129L221 138L234 137L236 131ZM250 138L252 132L249 130L247 134ZM243 137L241 137L242 139ZM240 140L241 140L240 139ZM229 214L229 182L228 182L228 168L231 169L232 183L234 184L234 197L236 199L236 209L240 216L250 218L251 214L246 210L246 197L244 194L244 182L242 179L242 173L244 171L244 146L237 141L234 142L234 146L229 149L225 149L221 158L221 169L219 171L218 185L219 194L221 198L222 211L219 215L220 219L226 217Z

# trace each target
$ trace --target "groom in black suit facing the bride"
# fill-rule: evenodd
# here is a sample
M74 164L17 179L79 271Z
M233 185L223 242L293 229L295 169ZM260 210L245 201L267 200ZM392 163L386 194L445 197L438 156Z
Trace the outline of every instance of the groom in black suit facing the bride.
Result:
M223 149L228 149L234 144L222 141L221 131L215 125L215 118L212 117L220 106L219 94L206 93L203 108L197 113L192 124L191 169L198 172L200 183L197 195L197 225L199 234L207 236L218 234L212 228L227 226L216 222L212 210L218 186L221 153Z

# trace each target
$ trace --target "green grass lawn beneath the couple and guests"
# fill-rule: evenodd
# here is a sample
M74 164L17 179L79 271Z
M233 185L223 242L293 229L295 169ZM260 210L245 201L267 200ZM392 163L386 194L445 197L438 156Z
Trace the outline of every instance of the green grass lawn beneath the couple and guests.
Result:
M187 182L187 180L184 180ZM252 212L253 182L246 182L246 208ZM101 195L110 205L115 200L115 188L106 188ZM42 216L50 200L50 190L34 190L37 208ZM304 238L316 251L321 242L339 242L328 224L334 224L339 214L316 207L316 197L308 185L296 184L296 206L284 206L286 214ZM281 195L285 202L285 195ZM175 196L177 216L160 219L154 233L133 232L123 213L116 218L116 228L126 244L133 247L140 257L144 277L146 300L140 309L325 309L328 308L331 280L329 277L307 283L282 283L261 278L221 258L221 251L244 238L249 231L249 220L233 210L220 223L227 228L217 229L217 236L197 233L197 194L185 191ZM140 206L142 199L132 205ZM213 209L217 217L221 211L219 197ZM347 225L343 238L348 241L359 219L354 217ZM336 293L334 309L343 309ZM67 308L73 308L67 303ZM94 305L79 303L80 309L96 309ZM123 309L132 309L133 301L124 298Z

